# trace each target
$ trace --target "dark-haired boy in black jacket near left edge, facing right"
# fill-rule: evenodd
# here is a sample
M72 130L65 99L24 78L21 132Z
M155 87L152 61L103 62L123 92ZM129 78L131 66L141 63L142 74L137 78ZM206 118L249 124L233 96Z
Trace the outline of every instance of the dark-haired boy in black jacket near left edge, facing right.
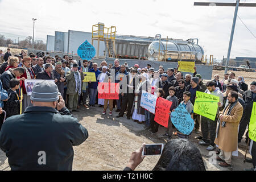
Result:
M16 90L19 89L19 81L15 78L10 80L10 89L7 90L9 99L5 105L6 118L11 117L12 115L18 115L20 113L20 102L23 98L19 100L19 96L16 93Z

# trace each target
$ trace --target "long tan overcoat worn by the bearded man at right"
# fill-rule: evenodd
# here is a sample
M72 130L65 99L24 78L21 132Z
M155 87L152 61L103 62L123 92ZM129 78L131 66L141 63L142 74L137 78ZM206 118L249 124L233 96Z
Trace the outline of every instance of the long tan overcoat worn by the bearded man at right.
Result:
M243 114L243 107L240 102L233 107L230 115L227 115L230 105L225 110L221 111L223 119L220 121L220 129L218 131L218 137L215 138L214 143L218 145L218 148L225 152L232 152L237 150L238 144L238 126ZM220 114L218 114L218 118ZM222 122L226 122L225 127L221 127Z

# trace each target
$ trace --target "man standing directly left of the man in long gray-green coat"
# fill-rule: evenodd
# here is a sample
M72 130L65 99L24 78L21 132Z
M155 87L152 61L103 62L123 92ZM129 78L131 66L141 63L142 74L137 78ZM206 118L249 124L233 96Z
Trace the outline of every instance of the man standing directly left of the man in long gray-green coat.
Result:
M61 62L56 63L55 69L52 71L55 79L57 79L56 85L58 87L61 96L64 96L64 82L65 82L65 72L61 69Z

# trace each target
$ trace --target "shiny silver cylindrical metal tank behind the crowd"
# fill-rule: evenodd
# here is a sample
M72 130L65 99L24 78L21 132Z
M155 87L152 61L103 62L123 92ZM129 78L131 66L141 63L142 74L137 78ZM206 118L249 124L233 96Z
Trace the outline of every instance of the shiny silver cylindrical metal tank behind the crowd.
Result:
M165 39L156 35L154 42L148 46L148 60L152 61L196 61L204 59L204 50L198 45L198 39ZM194 40L197 40L196 43Z

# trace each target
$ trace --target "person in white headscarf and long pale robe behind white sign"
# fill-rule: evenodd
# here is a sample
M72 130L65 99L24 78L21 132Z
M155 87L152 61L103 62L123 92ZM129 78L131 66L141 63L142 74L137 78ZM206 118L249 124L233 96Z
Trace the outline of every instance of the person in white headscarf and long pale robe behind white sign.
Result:
M148 80L147 73L142 73L141 82L135 90L135 98L133 101L133 107L131 108L131 113L133 113L134 122L143 124L145 122L145 109L141 107L141 95L142 90L147 91L148 86L150 86L150 81Z

